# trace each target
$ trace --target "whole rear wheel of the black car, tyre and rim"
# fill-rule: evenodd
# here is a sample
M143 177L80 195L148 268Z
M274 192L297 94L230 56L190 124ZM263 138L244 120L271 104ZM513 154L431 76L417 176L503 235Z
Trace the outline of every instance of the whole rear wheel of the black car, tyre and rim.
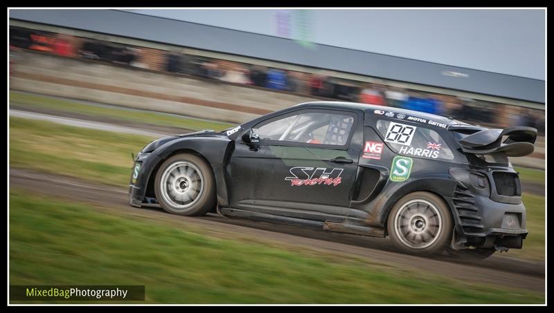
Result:
M386 224L395 246L409 254L440 254L449 247L454 227L445 201L425 191L398 200Z

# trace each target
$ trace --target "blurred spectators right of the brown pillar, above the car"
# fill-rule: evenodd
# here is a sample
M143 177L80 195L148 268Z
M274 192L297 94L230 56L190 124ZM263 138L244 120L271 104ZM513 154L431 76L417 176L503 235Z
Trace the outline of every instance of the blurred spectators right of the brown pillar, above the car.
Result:
M172 73L193 75L233 84L245 84L341 101L389 106L391 108L406 108L450 116L458 120L486 126L494 126L497 124L496 118L499 115L506 114L499 109L497 104L474 99L455 97L455 100L447 105L438 95L432 93L381 84L347 81L346 79L332 77L329 73L299 73L292 70L241 64L239 62L226 61L226 64L221 64L220 61L188 55L184 51L168 53L166 70ZM539 111L511 106L508 112L510 112L508 113L510 114L508 120L511 125L532 126L544 133L544 115Z

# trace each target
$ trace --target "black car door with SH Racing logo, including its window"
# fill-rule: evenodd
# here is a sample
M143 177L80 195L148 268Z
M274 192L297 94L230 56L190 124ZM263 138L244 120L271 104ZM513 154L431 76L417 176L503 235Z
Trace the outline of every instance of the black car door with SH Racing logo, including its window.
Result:
M231 207L342 221L361 151L362 118L355 111L302 109L254 125L260 141L247 144L239 136L227 167Z

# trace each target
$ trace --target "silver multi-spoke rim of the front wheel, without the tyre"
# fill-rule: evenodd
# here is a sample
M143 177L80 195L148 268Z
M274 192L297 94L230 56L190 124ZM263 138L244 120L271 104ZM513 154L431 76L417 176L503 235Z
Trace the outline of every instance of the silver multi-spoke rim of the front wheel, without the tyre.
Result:
M160 180L163 200L174 209L188 209L204 191L204 177L195 164L178 161L171 164Z

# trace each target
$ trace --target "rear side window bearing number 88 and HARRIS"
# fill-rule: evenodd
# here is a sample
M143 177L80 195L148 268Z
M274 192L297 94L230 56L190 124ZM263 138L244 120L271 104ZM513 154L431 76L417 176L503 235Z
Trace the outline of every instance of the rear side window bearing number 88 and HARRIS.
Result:
M377 131L383 136L384 142L398 154L428 159L454 159L445 140L432 129L378 120Z

